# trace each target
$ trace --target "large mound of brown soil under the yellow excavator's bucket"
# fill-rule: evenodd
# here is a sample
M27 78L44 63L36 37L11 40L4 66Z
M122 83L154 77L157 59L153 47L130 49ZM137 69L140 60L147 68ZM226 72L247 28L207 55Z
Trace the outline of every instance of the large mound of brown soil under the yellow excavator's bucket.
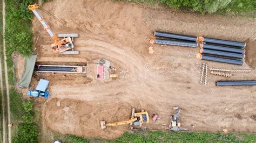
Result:
M56 102L60 101L60 106ZM63 109L68 106L66 112ZM131 105L128 103L85 102L74 99L52 98L45 104L45 121L51 130L62 134L75 134L87 138L114 139L129 128L129 125L100 128L100 120L106 123L130 119Z

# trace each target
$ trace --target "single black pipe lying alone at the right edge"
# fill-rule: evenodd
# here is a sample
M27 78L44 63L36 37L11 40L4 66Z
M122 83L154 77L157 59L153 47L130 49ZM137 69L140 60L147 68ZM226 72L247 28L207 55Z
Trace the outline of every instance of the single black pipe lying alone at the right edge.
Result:
M256 81L217 81L216 86L256 85Z

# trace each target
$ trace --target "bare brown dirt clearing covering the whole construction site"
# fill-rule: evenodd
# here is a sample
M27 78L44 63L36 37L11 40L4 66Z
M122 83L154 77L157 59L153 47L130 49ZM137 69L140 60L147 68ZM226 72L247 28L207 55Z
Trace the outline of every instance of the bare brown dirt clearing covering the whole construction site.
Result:
M215 85L256 80L255 19L112 1L55 0L42 8L65 21L64 26L38 9L56 34L79 35L70 38L73 48L68 49L76 54L56 54L42 21L32 20L37 63L29 88L17 90L41 111L43 140L53 138L51 131L114 139L128 130L171 131L175 126L190 132L256 132L256 87ZM242 66L203 61L207 50L199 60L199 41L196 47L151 44L154 31L246 42L246 56ZM13 59L18 84L25 58L14 54ZM250 72L228 74L213 68ZM59 70L65 72L55 72ZM27 96L41 79L49 81L49 97ZM148 123L133 126L144 119ZM119 121L125 125L107 126Z

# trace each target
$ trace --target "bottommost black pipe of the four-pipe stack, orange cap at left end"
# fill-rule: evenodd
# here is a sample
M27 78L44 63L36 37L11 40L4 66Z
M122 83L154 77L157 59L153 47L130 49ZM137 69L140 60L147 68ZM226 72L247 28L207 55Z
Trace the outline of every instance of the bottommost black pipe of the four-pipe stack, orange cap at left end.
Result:
M231 63L233 65L240 65L240 66L244 65L244 61L242 61L242 60L232 60L232 59L225 59L225 58L217 58L217 57L201 55L201 54L197 54L197 58L200 59L200 60Z

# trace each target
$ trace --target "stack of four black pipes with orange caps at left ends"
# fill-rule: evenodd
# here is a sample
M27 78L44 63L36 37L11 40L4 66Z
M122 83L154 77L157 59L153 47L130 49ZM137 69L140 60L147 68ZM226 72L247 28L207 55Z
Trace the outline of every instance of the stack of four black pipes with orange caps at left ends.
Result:
M199 37L202 60L244 65L245 42Z

